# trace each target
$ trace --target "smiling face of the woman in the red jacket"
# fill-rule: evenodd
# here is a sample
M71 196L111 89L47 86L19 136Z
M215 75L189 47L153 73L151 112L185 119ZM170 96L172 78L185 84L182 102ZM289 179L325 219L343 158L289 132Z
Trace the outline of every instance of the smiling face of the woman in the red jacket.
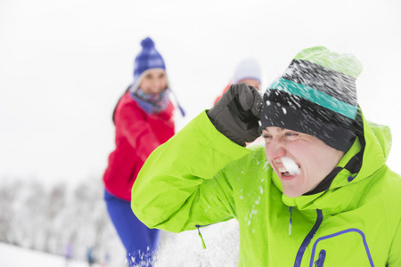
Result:
M166 72L163 69L149 69L139 87L143 93L157 95L166 89L167 83Z

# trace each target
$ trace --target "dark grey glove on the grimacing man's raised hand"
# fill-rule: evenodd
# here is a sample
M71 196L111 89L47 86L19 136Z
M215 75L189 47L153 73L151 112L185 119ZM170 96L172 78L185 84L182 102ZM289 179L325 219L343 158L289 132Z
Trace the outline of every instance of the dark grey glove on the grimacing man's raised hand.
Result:
M231 85L207 114L216 129L241 146L258 138L262 96L245 83Z

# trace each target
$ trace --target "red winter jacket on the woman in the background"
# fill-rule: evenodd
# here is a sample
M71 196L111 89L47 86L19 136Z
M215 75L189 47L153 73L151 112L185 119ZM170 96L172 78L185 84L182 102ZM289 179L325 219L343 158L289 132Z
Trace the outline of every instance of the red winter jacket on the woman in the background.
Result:
M131 200L131 188L146 158L160 144L174 135L174 105L149 115L125 93L114 113L116 149L110 153L103 175L106 190L124 200Z

